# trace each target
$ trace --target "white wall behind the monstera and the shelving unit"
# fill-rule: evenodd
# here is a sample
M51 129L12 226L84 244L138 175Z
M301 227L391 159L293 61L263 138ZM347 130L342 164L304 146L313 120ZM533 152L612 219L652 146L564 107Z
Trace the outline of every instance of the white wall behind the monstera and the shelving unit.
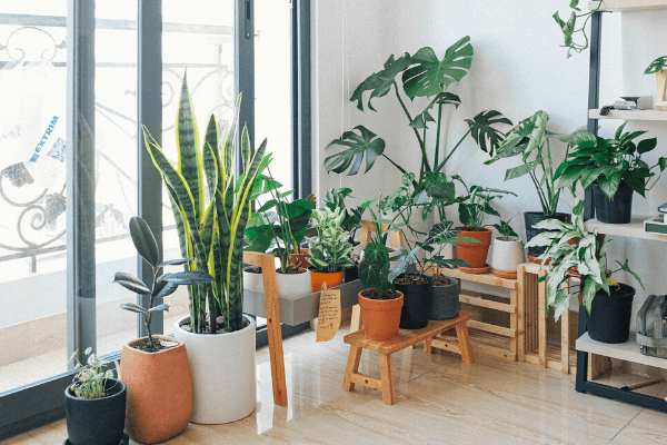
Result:
M571 132L586 126L589 52L566 58L560 48L563 36L551 14L567 12L561 0L318 0L313 3L313 185L318 196L329 188L348 186L355 196L377 197L398 184L399 177L386 160L378 159L374 169L356 177L327 175L323 159L338 148L325 147L342 131L364 125L387 141L386 152L409 170L417 170L417 142L394 92L374 100L378 112L360 112L349 102L355 88L370 73L382 69L389 55L415 53L430 46L441 57L464 36L475 48L472 68L450 91L460 96L462 106L451 112L444 131L451 148L467 131L464 119L479 111L497 109L517 122L537 110L549 113L548 129ZM605 14L603 22L601 105L624 95L656 93L655 78L641 72L656 57L667 53L664 31L667 11ZM368 93L367 93L368 95ZM415 112L421 111L414 105ZM601 136L611 136L620 121L603 121ZM660 123L629 125L650 130L665 152L667 127ZM429 136L430 140L435 136ZM557 147L561 150L563 147ZM657 151L657 150L656 150ZM653 160L654 157L650 159ZM448 174L458 174L468 185L499 187L515 191L519 198L505 198L497 208L505 218L516 214L515 228L525 234L525 210L539 210L539 200L528 177L504 181L505 169L516 160L484 166L488 155L467 139L447 165ZM651 190L648 199L635 198L635 212L650 215L667 200L667 180ZM569 200L569 199L568 199ZM571 202L571 200L569 200ZM560 211L569 207L561 204ZM451 214L456 214L452 211ZM450 215L455 216L455 215ZM653 277L663 245L615 241L611 259L626 255L641 271L647 290L659 293L660 280ZM649 255L644 257L648 253ZM651 268L649 268L649 265ZM664 275L665 267L659 273ZM621 277L619 277L621 278ZM627 278L621 278L627 280ZM643 300L644 297L639 298Z

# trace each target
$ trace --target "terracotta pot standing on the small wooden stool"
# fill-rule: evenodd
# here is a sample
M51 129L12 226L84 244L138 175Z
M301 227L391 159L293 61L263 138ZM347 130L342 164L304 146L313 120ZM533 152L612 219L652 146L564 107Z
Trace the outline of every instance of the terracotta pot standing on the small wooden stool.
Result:
M399 297L394 299L370 299L359 293L361 323L367 338L385 342L396 337L404 304L404 295L398 290L397 294Z

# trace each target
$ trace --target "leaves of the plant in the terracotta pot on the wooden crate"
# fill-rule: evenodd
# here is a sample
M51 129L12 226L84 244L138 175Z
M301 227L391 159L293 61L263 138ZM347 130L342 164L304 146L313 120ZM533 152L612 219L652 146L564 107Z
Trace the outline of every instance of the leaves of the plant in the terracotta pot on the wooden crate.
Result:
M460 176L456 175L452 178L461 182L466 188L466 195L456 198L456 202L459 205L459 220L466 229L475 230L487 227L484 224L486 215L500 216L498 210L491 207L491 201L494 199L501 199L506 195L517 196L511 191L497 188L481 186L471 186L468 188Z

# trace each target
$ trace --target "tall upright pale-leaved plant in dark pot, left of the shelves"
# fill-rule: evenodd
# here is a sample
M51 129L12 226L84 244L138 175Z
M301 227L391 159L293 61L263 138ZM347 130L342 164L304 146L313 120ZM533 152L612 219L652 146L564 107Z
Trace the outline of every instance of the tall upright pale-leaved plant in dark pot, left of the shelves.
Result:
M548 121L549 115L544 111L537 111L535 115L524 119L507 132L505 140L498 147L496 156L484 162L490 165L500 159L520 157L521 165L508 168L505 172L505 180L528 175L537 191L541 211L524 212L527 240L532 239L534 236L541 231L535 228L535 225L539 221L555 218L567 222L570 219L569 214L557 211L561 190L556 187L554 179L554 171L557 166L552 161L550 140L558 138L565 142L567 145L565 155L567 156L570 147L583 134L578 131L567 136L550 134L547 130ZM528 257L535 260L544 251L544 247L530 247L528 249Z

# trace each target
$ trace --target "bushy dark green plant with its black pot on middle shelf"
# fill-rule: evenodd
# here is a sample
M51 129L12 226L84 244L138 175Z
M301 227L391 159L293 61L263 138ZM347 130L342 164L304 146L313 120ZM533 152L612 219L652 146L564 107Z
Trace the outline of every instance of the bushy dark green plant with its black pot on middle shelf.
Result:
M600 222L628 224L633 215L633 192L645 197L658 179L648 182L659 168L660 174L667 168L667 158L660 157L655 166L649 167L641 155L654 150L657 139L634 140L646 131L623 132L627 122L616 131L614 139L595 136L588 131L577 141L574 151L556 169L554 177L558 187L571 187L580 182L584 189L593 187L595 212Z

